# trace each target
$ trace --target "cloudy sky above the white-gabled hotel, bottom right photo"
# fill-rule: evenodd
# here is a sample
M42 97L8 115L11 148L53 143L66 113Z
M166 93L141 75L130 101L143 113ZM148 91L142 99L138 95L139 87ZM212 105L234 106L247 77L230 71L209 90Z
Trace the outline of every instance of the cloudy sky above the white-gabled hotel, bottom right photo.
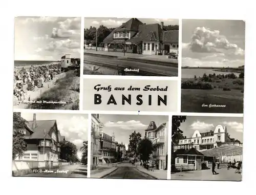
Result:
M200 133L214 131L217 125L227 126L230 138L243 142L243 117L187 116L186 121L181 123L180 129L184 136L190 138L196 130Z

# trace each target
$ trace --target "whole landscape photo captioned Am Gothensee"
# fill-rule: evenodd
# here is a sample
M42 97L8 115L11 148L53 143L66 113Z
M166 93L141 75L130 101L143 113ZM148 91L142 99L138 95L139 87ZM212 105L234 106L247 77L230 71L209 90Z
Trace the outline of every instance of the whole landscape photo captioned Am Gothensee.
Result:
M181 112L243 113L243 20L182 20Z

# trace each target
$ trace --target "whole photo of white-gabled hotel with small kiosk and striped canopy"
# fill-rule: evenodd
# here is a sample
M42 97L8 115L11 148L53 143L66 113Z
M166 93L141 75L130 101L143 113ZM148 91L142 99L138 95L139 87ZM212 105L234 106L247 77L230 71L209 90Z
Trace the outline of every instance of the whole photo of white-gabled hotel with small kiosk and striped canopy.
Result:
M242 181L243 117L173 116L172 180Z

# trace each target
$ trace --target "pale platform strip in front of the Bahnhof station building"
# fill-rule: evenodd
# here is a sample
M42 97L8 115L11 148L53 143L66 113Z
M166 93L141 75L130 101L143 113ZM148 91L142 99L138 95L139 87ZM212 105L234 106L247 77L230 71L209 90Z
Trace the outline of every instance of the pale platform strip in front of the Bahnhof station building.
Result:
M175 63L178 64L177 59L166 58L166 55L139 55L134 53L125 53L125 56L122 52L107 52L107 51L96 51L96 50L84 50L84 54L95 54L109 57L118 57L124 59L133 59L133 60L144 60L144 61L154 61L155 62L165 62L165 63Z

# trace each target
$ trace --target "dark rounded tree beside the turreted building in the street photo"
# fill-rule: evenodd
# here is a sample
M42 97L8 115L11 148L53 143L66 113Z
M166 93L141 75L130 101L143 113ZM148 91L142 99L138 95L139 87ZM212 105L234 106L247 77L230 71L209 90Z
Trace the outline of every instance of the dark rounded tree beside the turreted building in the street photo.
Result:
M150 160L153 151L155 150L153 143L151 140L147 139L146 137L138 143L137 147L137 154L140 155L140 159L143 161L144 164Z

